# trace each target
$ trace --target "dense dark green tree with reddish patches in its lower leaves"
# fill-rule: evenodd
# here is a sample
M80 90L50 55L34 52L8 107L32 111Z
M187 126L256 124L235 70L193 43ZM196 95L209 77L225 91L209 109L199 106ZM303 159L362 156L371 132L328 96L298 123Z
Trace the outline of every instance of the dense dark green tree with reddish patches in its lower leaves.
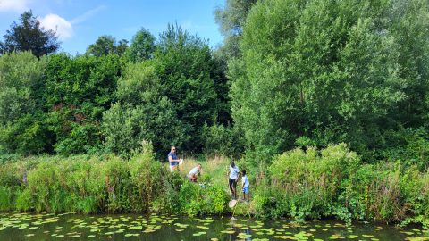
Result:
M49 56L44 99L57 153L80 154L101 145L100 121L114 102L121 68L116 55Z

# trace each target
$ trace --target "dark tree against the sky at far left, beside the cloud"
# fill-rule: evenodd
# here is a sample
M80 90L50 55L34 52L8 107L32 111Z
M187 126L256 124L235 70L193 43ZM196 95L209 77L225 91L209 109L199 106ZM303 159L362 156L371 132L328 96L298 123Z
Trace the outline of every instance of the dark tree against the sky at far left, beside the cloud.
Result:
M20 24L13 22L11 29L6 31L4 43L0 45L2 53L31 51L39 58L58 50L60 42L55 31L40 27L40 22L33 16L33 12L22 13L20 19Z

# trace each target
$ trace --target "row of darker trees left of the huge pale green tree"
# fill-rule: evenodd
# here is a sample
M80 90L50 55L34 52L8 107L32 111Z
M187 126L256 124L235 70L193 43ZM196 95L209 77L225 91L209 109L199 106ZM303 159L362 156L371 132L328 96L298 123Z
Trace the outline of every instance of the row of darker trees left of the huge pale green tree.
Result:
M100 37L83 55L3 54L2 152L130 157L150 140L157 152L201 153L211 127L230 123L226 78L205 40L170 25L118 49Z

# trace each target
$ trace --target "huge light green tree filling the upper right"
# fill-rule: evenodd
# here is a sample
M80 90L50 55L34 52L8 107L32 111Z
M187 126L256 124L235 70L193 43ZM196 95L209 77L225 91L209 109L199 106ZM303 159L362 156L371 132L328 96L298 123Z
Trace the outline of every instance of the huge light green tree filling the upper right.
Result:
M427 4L420 0L410 5L425 6L425 14L392 14L400 2L255 4L243 29L242 56L229 71L232 116L249 150L268 160L294 145L347 142L371 154L383 143L384 130L405 124L391 112L408 99L408 83L426 80L402 74L408 70L402 62L419 56L423 63L428 57L416 51L401 59L402 49L409 49L402 41L408 35L399 37L394 29L400 22L421 29L429 21ZM416 14L424 23L404 21ZM418 38L415 48L426 49L428 43L428 37Z

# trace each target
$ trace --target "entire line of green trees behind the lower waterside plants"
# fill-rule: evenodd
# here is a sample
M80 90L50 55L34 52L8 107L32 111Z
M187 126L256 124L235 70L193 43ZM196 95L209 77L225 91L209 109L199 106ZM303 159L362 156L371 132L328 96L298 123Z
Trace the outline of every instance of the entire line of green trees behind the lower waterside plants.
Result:
M129 158L148 140L257 166L344 142L365 162L425 170L428 12L423 0L227 0L215 50L171 25L130 45L99 37L83 55L3 54L1 152Z

